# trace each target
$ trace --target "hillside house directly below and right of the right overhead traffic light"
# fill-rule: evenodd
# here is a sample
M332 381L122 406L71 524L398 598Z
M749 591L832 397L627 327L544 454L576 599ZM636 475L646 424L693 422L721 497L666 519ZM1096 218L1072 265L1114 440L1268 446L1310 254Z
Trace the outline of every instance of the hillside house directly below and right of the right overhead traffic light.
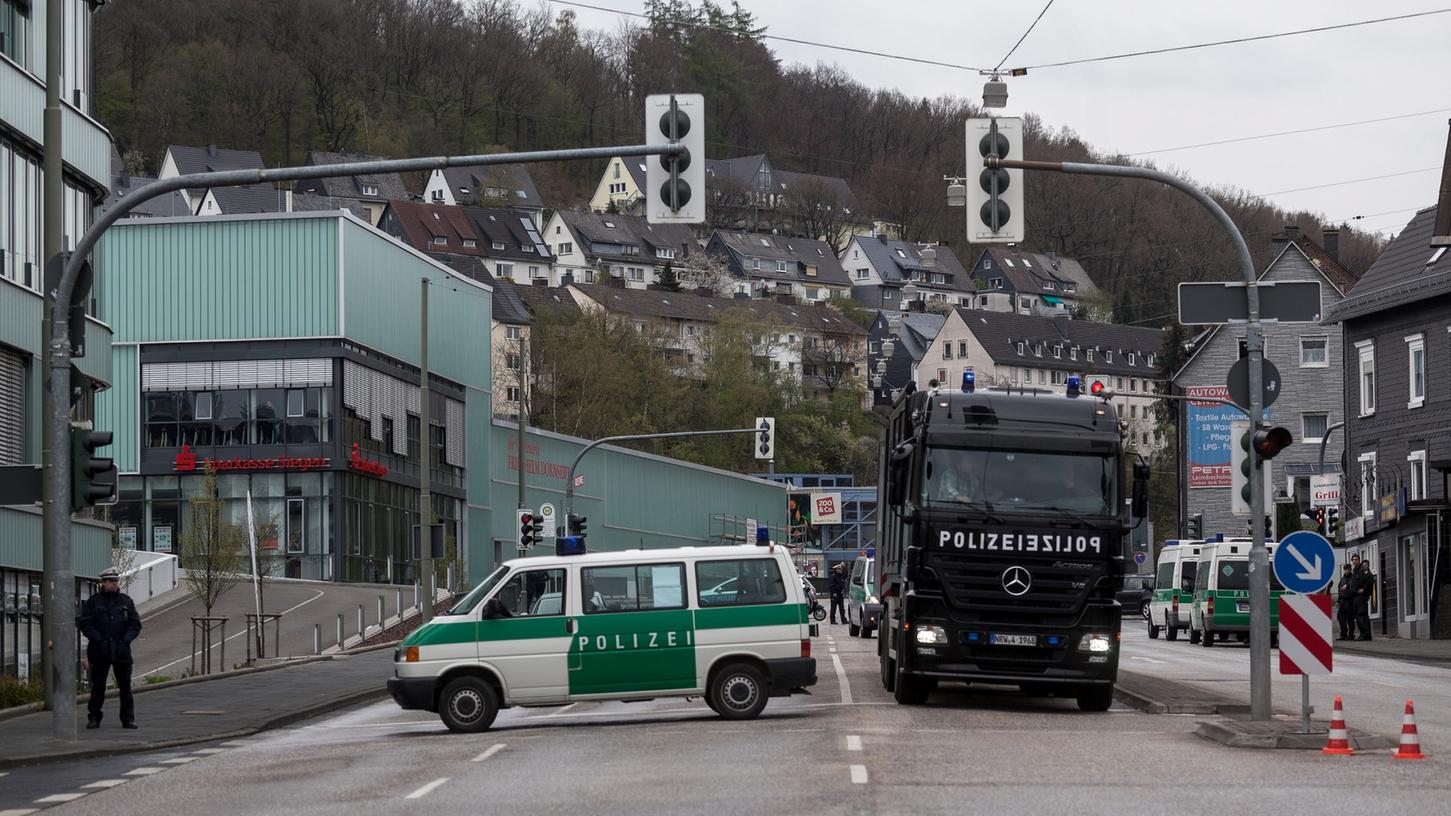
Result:
M1082 299L1096 292L1082 264L1053 253L1024 253L988 247L969 273L978 309L1020 315L1074 315Z

